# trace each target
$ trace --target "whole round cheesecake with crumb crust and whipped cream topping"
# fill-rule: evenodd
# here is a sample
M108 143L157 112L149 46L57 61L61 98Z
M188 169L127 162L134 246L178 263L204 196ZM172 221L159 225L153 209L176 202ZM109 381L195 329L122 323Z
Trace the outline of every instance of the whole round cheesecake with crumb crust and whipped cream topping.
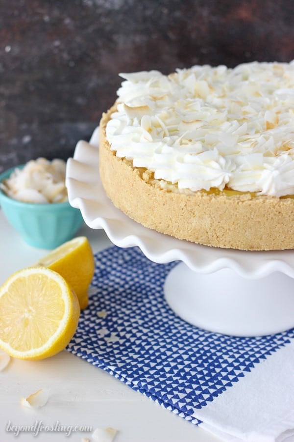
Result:
M198 244L294 249L294 63L121 75L100 121L114 205Z

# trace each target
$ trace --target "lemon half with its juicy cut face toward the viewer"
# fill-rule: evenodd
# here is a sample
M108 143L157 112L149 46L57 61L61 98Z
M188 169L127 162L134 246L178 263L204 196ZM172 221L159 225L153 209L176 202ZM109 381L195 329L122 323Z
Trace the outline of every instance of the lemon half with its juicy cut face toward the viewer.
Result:
M0 288L0 348L19 359L45 359L76 331L80 307L68 282L53 270L30 267Z

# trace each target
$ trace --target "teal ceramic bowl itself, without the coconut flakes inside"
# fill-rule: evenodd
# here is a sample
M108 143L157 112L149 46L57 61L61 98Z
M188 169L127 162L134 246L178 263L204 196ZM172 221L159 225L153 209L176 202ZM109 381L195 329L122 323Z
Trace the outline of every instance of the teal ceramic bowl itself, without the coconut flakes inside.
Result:
M23 166L18 166L22 168ZM0 174L0 182L16 167ZM73 238L83 223L79 209L70 203L31 204L7 196L0 189L0 206L10 224L30 246L54 249Z

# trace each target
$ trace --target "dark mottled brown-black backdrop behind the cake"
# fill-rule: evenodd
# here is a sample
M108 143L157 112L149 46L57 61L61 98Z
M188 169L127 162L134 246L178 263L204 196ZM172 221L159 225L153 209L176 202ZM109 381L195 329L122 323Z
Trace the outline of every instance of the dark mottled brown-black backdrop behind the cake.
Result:
M119 72L293 58L293 0L0 0L0 172L72 156Z

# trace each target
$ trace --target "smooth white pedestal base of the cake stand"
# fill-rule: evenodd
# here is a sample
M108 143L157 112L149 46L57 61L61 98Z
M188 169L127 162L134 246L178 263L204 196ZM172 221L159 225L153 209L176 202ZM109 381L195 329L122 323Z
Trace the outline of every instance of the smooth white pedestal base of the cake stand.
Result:
M231 269L198 274L180 263L164 294L178 316L205 330L261 336L294 327L294 279L280 272L247 279Z

